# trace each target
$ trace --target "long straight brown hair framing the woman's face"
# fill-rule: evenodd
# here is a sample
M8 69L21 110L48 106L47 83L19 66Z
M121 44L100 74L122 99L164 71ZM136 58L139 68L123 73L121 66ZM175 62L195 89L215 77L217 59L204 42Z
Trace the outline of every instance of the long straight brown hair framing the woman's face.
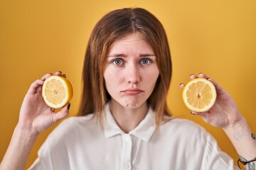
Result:
M100 124L105 124L105 104L110 100L103 77L107 54L114 41L130 33L140 33L156 54L159 77L148 102L156 112L156 125L159 127L164 115L169 113L166 95L171 81L171 54L164 27L143 8L122 8L107 13L92 30L85 53L78 115L95 113Z

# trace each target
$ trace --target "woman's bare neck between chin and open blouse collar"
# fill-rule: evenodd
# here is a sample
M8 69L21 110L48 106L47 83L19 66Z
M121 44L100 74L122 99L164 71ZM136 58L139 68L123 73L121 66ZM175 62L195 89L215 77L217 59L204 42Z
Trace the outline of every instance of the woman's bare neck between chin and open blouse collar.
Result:
M126 108L117 103L117 101L114 101L114 99L110 102L110 111L114 120L125 133L134 130L139 125L145 118L148 109L149 107L146 102L138 108Z

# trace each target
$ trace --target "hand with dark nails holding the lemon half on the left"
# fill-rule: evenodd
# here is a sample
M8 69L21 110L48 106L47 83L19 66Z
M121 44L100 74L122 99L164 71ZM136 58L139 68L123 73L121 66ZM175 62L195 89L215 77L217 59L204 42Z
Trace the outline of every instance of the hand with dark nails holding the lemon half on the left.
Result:
M55 75L65 77L65 74L61 72L55 72ZM38 135L69 114L69 104L64 106L58 113L55 113L54 109L47 106L45 101L43 101L42 86L44 81L50 76L52 74L45 74L41 79L31 84L23 99L16 128L31 130L33 134Z

